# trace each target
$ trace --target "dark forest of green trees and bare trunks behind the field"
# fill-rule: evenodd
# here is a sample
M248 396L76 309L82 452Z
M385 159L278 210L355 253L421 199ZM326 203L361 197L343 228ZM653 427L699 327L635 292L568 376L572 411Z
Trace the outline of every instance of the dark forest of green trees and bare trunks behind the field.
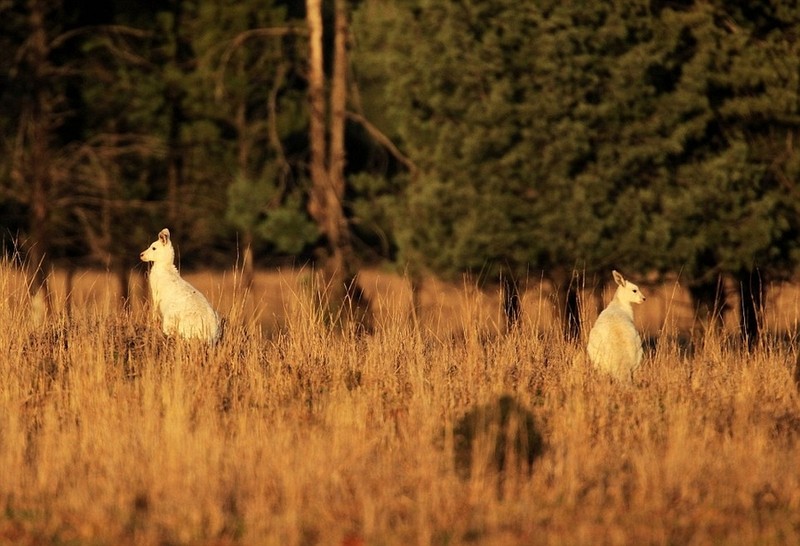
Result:
M706 309L734 286L754 339L800 262L788 0L2 0L0 19L0 223L34 296L53 267L127 293L169 226L189 270L543 277L568 335L573 289L614 267Z

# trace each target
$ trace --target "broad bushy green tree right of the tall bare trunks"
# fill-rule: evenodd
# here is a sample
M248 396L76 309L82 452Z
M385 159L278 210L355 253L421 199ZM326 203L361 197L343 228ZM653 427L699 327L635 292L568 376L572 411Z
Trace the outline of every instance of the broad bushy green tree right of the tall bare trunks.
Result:
M619 136L609 120L624 123L617 58L647 38L647 11L627 4L419 1L385 21L366 8L358 66L383 71L384 123L419 167L396 225L403 259L445 276L543 270L579 333L574 271L635 255L644 214L642 185L593 168Z

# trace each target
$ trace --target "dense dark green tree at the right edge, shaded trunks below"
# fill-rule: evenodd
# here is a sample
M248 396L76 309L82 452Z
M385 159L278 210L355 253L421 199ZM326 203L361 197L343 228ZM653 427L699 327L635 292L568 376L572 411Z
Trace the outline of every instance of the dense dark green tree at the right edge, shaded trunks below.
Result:
M668 245L654 261L683 269L697 303L717 312L712 321L727 305L721 279L734 279L750 345L766 282L798 263L800 19L786 8L698 2L659 17L658 43L675 59L659 112L675 153L654 222Z

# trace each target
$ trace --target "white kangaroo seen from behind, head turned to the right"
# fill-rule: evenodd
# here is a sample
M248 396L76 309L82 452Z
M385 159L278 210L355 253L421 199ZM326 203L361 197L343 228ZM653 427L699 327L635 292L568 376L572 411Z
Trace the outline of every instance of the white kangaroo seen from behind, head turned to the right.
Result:
M642 362L642 339L633 325L633 303L642 303L639 287L616 271L614 299L603 309L589 332L587 352L595 368L621 381L630 382L633 370Z

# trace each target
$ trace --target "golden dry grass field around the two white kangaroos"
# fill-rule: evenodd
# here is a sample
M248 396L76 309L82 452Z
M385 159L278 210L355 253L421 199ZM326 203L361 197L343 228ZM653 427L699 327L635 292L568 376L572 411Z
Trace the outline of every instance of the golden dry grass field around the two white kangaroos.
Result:
M402 278L365 272L376 318L358 335L321 315L308 272L250 291L187 277L226 320L213 348L164 339L141 285L118 310L93 272L69 318L57 277L37 327L0 267L0 544L800 543L793 287L748 352L731 324L705 332L679 285L639 282L650 341L624 387L562 340L538 281L505 332L494 293L426 282L414 319ZM498 475L476 439L460 473L453 430L504 394L541 456Z

